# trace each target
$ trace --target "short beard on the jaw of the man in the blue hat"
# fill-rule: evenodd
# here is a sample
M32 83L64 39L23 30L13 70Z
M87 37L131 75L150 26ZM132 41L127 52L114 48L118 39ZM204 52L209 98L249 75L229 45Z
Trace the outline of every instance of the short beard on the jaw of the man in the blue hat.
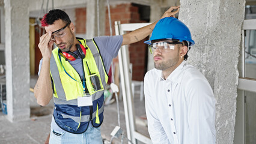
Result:
M157 69L157 70L166 70L170 67L173 67L174 65L176 65L178 63L178 55L175 56L175 58L172 58L172 59L168 59L167 61L163 61L161 63L157 63L157 62L154 62L154 67Z

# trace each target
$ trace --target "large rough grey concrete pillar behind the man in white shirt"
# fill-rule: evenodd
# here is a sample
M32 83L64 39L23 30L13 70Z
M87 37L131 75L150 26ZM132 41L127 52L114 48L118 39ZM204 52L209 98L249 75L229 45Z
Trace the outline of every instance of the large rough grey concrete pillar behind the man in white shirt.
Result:
M245 0L181 0L179 19L195 46L188 61L209 80L216 97L216 143L233 143Z

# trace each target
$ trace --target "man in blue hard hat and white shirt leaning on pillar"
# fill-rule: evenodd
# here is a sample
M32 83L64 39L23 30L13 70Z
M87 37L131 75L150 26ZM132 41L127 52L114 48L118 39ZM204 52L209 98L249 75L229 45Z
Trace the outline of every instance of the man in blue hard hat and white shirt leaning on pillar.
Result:
M185 62L195 44L189 28L174 17L165 17L145 43L153 52L155 67L144 77L152 142L215 143L215 96L206 77Z

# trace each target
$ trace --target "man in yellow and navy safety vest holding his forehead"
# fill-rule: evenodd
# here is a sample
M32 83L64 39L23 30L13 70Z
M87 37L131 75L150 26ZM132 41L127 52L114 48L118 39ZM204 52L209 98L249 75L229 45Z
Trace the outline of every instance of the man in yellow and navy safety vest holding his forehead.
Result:
M171 7L163 17L174 16ZM55 104L50 143L102 143L103 90L108 71L121 45L147 37L156 22L130 33L91 40L75 37L75 26L62 10L50 10L41 20L46 34L38 47L39 77L34 88L37 103L45 106L53 95ZM56 48L52 50L53 43Z

